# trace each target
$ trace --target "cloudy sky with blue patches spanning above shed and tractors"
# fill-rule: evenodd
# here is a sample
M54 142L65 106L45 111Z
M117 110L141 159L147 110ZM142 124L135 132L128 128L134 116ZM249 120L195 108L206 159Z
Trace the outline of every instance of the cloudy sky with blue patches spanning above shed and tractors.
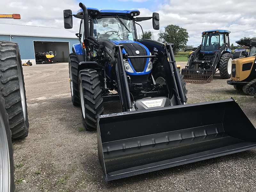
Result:
M2 19L0 23L64 28L63 10L71 9L76 13L78 3L98 9L139 9L140 16L152 16L158 12L160 30L174 24L188 30L188 45L201 44L201 33L209 29L230 30L230 41L242 37L256 36L255 0L1 0L0 13L20 13L21 20ZM79 20L73 20L72 33L78 32ZM151 30L157 39L158 30L153 30L152 21L140 22L144 31ZM162 28L162 29L161 29Z

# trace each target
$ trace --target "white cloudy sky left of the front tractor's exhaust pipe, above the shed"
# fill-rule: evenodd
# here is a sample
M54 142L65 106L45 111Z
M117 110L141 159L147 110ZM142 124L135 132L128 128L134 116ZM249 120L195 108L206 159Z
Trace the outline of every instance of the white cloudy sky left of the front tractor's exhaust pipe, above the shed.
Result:
M1 14L19 13L20 20L1 19L0 23L12 23L20 25L43 26L53 28L63 28L63 10L71 9L76 13L79 9L76 0L61 0L61 1L35 1L35 0L12 0L1 2ZM76 33L79 30L79 20L73 19L73 29L68 29L70 32Z

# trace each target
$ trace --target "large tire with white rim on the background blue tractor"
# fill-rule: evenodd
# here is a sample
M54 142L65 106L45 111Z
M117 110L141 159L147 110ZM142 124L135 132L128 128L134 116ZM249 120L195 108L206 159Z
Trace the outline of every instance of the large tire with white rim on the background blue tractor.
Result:
M232 61L233 56L230 53L224 53L220 57L219 69L220 69L220 78L229 79L232 72Z

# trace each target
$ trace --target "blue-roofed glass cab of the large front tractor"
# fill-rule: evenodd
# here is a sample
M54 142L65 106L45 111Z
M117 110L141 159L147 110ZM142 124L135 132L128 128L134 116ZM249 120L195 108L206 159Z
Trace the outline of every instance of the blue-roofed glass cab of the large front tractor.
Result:
M89 18L89 35L95 39L113 41L136 41L137 34L133 18L139 16L138 10L98 10L87 8ZM77 15L83 15L80 9ZM84 35L84 27L81 21L80 34Z

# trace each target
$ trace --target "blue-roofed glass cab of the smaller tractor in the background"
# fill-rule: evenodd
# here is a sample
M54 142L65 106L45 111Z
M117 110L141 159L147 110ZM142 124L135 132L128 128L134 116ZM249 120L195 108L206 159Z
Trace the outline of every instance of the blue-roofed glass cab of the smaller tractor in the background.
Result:
M201 53L215 53L224 44L229 47L229 33L230 31L221 29L202 32Z

